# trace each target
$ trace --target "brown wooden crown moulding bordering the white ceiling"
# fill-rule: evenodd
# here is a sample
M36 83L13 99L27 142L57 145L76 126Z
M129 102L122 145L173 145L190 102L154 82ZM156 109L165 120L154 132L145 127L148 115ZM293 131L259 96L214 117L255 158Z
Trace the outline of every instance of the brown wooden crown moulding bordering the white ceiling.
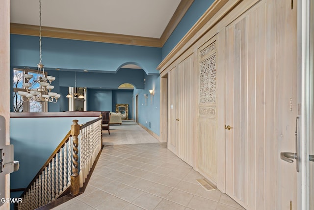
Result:
M167 27L160 38L151 38L143 36L131 36L115 33L93 32L85 30L70 30L54 27L42 26L42 36L51 38L73 39L82 41L94 41L113 44L136 45L145 47L161 48L167 41L171 33L176 29L181 19L194 0L181 0L175 13L170 19ZM10 24L10 33L20 35L39 36L39 26L26 24Z

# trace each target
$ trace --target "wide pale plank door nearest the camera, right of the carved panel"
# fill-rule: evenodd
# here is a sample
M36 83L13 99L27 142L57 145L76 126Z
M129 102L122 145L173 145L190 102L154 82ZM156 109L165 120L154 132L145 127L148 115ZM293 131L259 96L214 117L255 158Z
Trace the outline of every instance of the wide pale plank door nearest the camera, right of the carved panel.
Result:
M280 159L295 151L296 16L288 6L262 0L226 27L226 193L248 210L289 209L290 201L297 209L295 164Z

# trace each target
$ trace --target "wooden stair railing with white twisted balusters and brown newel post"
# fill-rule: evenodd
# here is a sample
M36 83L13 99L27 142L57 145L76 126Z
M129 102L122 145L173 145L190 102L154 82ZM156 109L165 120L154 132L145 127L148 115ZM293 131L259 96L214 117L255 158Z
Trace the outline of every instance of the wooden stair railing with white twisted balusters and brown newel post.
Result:
M71 130L22 193L18 210L37 209L68 193L78 195L102 149L102 118L82 125L72 121Z

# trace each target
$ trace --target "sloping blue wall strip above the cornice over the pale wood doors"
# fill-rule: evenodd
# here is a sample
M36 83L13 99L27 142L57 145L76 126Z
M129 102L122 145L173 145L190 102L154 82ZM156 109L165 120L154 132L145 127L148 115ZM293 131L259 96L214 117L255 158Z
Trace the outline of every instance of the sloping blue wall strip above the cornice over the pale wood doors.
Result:
M194 0L187 10L182 20L172 32L161 50L161 59L163 60L171 50L179 43L183 36L189 31L198 19L206 12L214 0Z

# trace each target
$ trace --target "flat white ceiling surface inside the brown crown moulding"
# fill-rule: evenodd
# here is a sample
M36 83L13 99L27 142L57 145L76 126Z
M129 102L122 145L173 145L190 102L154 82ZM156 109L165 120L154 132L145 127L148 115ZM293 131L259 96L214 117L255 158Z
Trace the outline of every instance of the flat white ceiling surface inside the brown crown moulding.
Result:
M181 0L42 0L42 26L160 38ZM11 23L39 25L39 0L11 0Z

